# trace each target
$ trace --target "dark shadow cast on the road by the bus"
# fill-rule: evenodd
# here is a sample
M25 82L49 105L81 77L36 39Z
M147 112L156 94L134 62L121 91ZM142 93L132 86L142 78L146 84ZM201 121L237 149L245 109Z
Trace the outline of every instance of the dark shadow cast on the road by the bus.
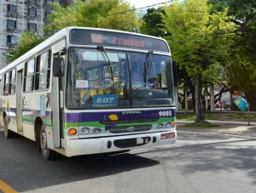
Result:
M38 153L38 147L34 141L23 137L4 139L3 131L0 131L0 150L3 152L7 146L9 146L9 152L0 158L0 171L3 169L8 171L8 173L2 173L6 176L3 180L19 192L108 177L160 164L160 162L127 152L116 155L59 156L54 161L46 161ZM7 164L3 167L3 163ZM14 165L18 166L19 170ZM9 173L13 174L9 175ZM18 184L11 178L14 175L15 182L19 182ZM32 178L40 180L31 181Z

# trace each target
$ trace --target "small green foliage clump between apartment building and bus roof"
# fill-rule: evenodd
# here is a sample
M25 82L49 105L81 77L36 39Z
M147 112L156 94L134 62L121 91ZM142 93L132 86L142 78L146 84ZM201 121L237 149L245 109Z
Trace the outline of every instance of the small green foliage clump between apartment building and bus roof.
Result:
M21 38L18 40L18 46L14 50L9 51L10 56L7 60L10 62L18 59L21 55L28 52L30 49L44 41L43 37L37 37L32 31L24 31Z

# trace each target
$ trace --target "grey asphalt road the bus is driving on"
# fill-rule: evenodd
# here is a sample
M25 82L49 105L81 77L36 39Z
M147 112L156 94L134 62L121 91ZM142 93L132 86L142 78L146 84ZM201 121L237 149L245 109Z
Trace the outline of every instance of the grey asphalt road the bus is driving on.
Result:
M255 150L248 139L179 135L176 145L45 161L35 142L0 129L0 180L37 193L255 193Z

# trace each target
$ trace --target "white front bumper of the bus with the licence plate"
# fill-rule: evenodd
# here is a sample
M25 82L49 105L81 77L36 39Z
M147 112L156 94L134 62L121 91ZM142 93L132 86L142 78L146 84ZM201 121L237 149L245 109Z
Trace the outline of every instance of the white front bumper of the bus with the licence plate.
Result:
M66 144L66 156L132 150L157 145L172 145L175 144L176 139L176 130L162 133L143 133L96 139L69 139Z

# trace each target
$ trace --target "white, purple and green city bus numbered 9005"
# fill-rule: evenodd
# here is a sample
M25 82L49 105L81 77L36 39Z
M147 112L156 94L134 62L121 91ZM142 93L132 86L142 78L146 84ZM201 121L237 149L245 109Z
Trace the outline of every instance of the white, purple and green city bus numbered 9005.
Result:
M4 135L47 160L174 144L173 66L162 38L66 27L0 71Z

